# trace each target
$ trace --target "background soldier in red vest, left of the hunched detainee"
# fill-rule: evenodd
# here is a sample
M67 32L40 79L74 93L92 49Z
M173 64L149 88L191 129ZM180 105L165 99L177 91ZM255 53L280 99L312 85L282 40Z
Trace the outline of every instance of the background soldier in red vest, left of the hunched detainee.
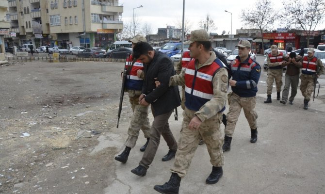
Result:
M283 53L277 50L276 45L271 46L271 53L267 55L267 65L269 69L267 70L267 99L264 103L271 103L271 94L273 88L273 82L276 80L276 100L280 100L280 92L282 87L282 64Z

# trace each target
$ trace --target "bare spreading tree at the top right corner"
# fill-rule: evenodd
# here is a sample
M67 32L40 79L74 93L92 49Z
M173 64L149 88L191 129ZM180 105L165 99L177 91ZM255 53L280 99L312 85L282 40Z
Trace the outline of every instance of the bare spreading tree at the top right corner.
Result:
M325 0L291 0L283 1L282 4L285 10L281 14L281 23L302 30L307 35L307 46L309 46L310 35L324 18Z

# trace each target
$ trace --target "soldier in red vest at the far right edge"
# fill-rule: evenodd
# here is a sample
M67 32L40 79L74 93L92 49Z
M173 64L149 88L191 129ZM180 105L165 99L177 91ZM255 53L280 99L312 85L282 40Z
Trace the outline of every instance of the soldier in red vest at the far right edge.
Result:
M308 49L308 56L303 57L300 75L300 91L304 99L304 109L308 109L311 93L314 91L315 80L324 71L324 65L320 59L314 56L315 50Z

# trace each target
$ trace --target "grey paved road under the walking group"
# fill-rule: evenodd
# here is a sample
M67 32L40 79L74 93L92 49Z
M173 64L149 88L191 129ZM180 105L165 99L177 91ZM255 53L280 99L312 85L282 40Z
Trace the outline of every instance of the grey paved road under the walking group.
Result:
M264 58L258 56L257 61L262 64ZM303 97L300 92L293 105L282 105L276 99L271 104L264 104L265 81L266 72L262 72L256 105L259 115L258 142L249 142L250 129L242 112L231 151L224 154L224 176L215 185L205 184L205 179L211 172L211 164L206 146L198 146L188 174L181 180L180 194L325 193L325 76L320 79L320 96L310 102L309 110L302 108ZM275 89L274 93L276 94ZM274 98L276 95L272 96ZM180 108L179 112L179 121L174 121L173 116L169 120L176 138L179 138L182 120ZM102 136L97 148L119 145L122 150L127 127L120 126ZM139 148L144 143L141 134L136 147L131 150L129 161L126 164L114 162L116 168L112 173L116 174L116 178L108 180L110 185L105 189L105 194L153 194L156 193L154 185L163 184L169 179L169 169L174 160L161 161L168 151L163 140L146 176L138 177L130 173L141 160L142 152Z

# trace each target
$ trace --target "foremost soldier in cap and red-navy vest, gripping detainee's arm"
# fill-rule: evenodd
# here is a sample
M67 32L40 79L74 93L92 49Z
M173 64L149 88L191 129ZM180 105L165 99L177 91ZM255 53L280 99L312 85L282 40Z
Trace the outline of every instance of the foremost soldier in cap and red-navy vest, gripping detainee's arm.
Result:
M211 42L205 30L191 32L191 57L186 69L180 75L171 77L169 84L185 84L185 110L180 131L172 175L164 185L154 189L162 194L178 194L181 178L184 178L195 154L200 139L207 145L212 172L207 184L215 184L223 175L222 152L223 130L220 129L222 112L227 101L228 73L226 66L210 51Z

